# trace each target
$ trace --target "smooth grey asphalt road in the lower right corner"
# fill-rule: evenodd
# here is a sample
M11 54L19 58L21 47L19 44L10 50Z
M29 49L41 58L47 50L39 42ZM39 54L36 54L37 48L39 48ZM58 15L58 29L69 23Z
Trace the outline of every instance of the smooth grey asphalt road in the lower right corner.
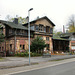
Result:
M75 61L12 75L75 75Z

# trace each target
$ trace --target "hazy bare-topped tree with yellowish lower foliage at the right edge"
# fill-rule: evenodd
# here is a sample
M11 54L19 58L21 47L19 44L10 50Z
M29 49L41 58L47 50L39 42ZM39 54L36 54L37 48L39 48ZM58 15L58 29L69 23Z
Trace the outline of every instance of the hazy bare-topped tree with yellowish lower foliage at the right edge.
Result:
M75 32L75 15L71 15L68 21L69 32Z

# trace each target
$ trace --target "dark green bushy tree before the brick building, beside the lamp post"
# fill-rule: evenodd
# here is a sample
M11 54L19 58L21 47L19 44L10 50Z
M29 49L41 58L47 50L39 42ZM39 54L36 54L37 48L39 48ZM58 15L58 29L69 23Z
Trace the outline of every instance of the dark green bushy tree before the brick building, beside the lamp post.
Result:
M36 37L31 41L31 52L40 52L45 47L45 41L41 37Z

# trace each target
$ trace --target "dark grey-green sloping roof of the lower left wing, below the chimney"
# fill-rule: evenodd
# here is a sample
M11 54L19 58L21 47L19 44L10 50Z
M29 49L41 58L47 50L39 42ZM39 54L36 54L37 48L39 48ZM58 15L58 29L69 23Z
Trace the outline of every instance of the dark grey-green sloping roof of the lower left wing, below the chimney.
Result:
M25 30L28 30L28 28L24 27L22 24L15 24L14 22L3 21L3 20L0 20L0 23L2 23L4 25L8 25L9 27L15 28L15 29L25 29Z

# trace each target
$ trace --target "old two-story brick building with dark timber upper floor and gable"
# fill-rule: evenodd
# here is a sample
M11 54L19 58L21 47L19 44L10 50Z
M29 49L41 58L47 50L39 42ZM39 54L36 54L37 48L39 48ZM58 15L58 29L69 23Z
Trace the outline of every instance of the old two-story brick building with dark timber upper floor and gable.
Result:
M0 44L0 51L15 54L17 51L28 50L28 23L19 24L15 18L13 22L0 20L2 25L2 33L4 34L4 42ZM55 24L46 16L30 22L31 40L37 36L41 36L45 43L48 44L49 50L53 52L52 36Z

